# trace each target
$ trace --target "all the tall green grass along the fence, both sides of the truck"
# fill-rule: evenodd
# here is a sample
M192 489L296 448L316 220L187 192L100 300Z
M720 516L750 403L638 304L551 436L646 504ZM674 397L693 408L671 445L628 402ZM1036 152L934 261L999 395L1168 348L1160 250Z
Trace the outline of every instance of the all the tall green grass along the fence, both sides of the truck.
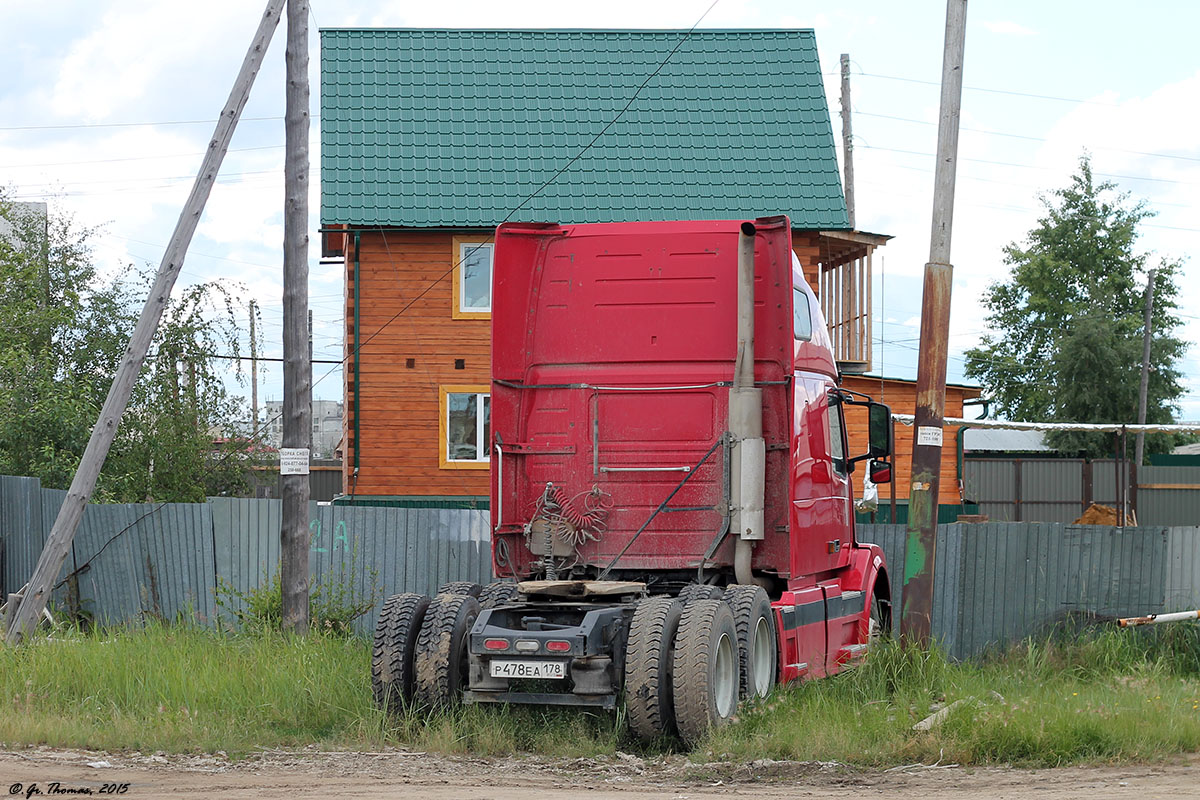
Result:
M385 720L356 638L188 626L56 632L0 649L0 742L143 752L317 745L586 757L647 747L619 716L466 706ZM912 726L964 700L930 732ZM936 705L935 705L936 704ZM859 668L775 692L692 758L1060 765L1200 750L1200 626L1027 642L973 664L888 644Z

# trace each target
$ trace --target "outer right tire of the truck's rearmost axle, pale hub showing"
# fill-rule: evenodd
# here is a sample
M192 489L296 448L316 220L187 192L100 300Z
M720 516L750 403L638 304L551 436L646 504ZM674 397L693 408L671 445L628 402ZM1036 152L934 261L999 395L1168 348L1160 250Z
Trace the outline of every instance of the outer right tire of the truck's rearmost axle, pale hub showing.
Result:
M684 607L673 663L676 726L684 742L695 745L738 708L738 631L725 602Z

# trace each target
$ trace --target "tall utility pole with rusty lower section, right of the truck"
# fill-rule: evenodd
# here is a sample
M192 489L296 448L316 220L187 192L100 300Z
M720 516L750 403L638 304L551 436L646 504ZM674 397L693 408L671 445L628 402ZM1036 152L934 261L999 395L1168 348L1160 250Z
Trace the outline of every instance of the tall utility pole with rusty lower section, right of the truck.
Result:
M934 224L920 305L912 487L908 494L908 536L900 616L900 636L907 643L919 646L929 644L934 608L942 417L946 414L946 357L950 333L950 287L954 278L954 267L950 266L950 227L954 219L954 173L959 152L966 22L967 0L948 0L946 50L942 56L942 110L937 125L937 168L934 174Z

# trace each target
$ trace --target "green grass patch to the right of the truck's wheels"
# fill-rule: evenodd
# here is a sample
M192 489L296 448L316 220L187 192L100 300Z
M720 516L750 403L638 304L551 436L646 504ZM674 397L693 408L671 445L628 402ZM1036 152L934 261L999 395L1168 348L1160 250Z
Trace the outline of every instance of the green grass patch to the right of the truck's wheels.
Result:
M931 730L912 726L955 700ZM1058 766L1200 750L1200 627L1025 642L980 663L888 643L862 667L773 694L706 757Z

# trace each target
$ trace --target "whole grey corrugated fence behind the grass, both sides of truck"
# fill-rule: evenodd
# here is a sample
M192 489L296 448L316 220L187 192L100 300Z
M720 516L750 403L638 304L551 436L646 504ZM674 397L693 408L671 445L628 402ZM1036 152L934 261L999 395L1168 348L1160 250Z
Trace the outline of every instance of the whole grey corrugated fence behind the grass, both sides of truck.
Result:
M0 477L4 590L29 579L64 492ZM247 593L278 569L278 500L90 505L54 593L102 624L148 615L212 622L215 591ZM446 581L491 581L487 512L313 505L314 584L376 599L432 594ZM887 553L900 607L905 528L860 525ZM1070 613L1106 616L1200 607L1200 528L1102 528L1056 523L940 525L935 636L956 658L1036 636ZM223 597L235 596L228 593ZM898 616L898 615L896 615ZM899 620L896 620L899 621Z

